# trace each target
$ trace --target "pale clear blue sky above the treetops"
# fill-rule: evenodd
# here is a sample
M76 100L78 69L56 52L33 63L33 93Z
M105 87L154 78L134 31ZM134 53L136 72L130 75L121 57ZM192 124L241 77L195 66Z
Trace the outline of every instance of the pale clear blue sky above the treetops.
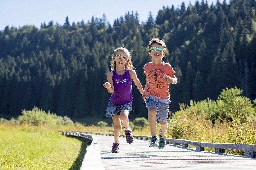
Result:
M180 8L182 2L187 7L189 2L194 5L196 0L0 0L0 30L4 30L5 26L18 28L24 25L35 25L39 28L41 23L48 25L51 20L54 25L56 22L63 25L67 16L70 24L82 20L87 23L92 16L102 18L103 14L112 26L115 19L132 11L138 12L141 23L147 21L149 12L155 19L163 6L174 5L177 8L179 5ZM207 0L208 5L215 5L216 2L217 0ZM226 2L229 4L229 0Z

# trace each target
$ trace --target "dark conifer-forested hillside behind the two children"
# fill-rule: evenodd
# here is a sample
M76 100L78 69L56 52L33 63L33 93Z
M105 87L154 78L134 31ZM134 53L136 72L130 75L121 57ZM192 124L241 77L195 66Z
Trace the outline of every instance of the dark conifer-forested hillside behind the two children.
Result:
M113 26L107 18L40 28L6 26L0 31L0 113L21 114L34 106L60 116L104 117L110 93L102 86L110 57L127 48L143 87L143 66L150 61L148 41L159 37L167 46L164 61L176 71L170 85L172 112L179 103L216 100L222 89L238 87L256 98L256 1L230 0L175 8L163 4L156 19L145 23L128 12ZM154 9L156 10L156 9ZM65 18L63 18L65 19ZM130 117L147 117L133 84Z

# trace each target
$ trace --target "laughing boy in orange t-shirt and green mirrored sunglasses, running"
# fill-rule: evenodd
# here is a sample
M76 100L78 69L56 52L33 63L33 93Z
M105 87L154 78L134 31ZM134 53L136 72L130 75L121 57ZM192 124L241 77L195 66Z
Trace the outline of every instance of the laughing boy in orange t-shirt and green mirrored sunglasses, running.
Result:
M170 104L169 83L177 83L172 66L162 61L165 50L166 45L162 40L159 38L151 39L149 41L148 55L152 58L152 62L145 64L143 67L146 75L146 86L142 97L145 97L146 100L148 124L152 135L149 147L158 146L159 149L163 149L166 144L167 118ZM161 125L159 139L156 135L156 120Z

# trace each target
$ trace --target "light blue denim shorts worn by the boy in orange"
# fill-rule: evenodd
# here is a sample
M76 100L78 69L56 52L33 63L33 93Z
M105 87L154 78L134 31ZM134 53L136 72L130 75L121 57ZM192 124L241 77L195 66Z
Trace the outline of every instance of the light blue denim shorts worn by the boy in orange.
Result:
M169 105L171 101L169 99L160 99L153 95L145 97L146 107L154 106L156 108L156 120L166 122L168 119Z

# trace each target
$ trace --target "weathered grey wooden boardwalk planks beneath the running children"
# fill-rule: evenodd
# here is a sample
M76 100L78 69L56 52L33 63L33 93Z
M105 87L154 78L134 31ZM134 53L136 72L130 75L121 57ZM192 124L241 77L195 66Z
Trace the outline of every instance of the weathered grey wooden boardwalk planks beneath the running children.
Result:
M119 138L119 153L111 153L114 137L94 136L100 144L101 160L105 170L256 169L255 158L196 151L169 144L160 150L157 147L149 147L149 140L135 139L132 144L127 144L126 138L123 137Z

